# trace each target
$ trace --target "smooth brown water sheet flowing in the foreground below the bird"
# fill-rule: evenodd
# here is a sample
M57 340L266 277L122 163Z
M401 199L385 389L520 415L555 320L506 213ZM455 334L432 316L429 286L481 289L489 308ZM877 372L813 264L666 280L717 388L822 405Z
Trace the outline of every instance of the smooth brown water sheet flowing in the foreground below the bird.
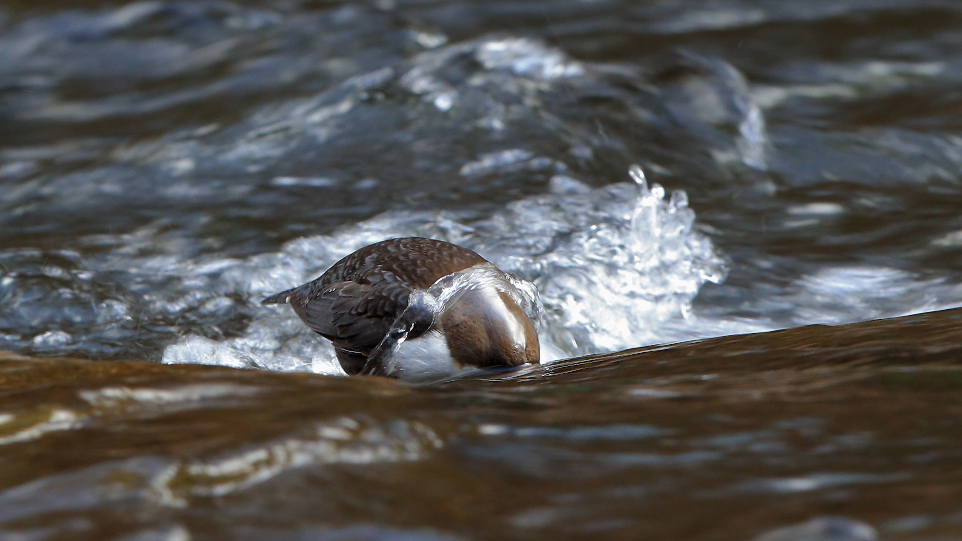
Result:
M425 387L10 355L0 524L10 539L735 540L828 514L956 538L960 320Z

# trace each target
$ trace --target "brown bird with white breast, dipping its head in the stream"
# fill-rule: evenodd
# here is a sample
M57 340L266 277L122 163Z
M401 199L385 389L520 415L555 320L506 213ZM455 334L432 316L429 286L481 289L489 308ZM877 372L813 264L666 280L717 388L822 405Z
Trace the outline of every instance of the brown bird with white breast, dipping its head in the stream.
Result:
M262 304L289 304L349 375L443 379L538 364L534 285L474 251L423 237L367 245Z

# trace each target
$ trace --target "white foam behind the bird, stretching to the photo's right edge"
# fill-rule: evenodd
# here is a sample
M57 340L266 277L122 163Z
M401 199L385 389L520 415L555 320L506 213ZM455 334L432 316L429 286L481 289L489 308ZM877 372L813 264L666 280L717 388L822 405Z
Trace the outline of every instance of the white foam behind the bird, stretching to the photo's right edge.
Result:
M762 288L760 316L693 313L706 282L720 283L722 258L694 227L684 192L667 196L632 167L633 184L592 189L555 176L550 193L520 199L485 219L450 212L391 212L325 236L298 239L247 260L185 263L169 256L128 260L140 270L181 277L184 288L157 301L172 307L245 299L253 314L243 335L228 340L185 336L165 349L165 363L343 374L330 343L287 306L260 306L265 296L316 278L348 253L392 237L418 235L465 245L502 270L533 282L544 302L542 362L574 355L759 332L812 322L856 322L948 308L962 290L948 282L884 268L826 268L778 291ZM203 295L201 295L201 293ZM213 292L213 293L212 293ZM233 300L231 300L233 302ZM788 321L767 314L781 307ZM734 308L732 308L734 309Z

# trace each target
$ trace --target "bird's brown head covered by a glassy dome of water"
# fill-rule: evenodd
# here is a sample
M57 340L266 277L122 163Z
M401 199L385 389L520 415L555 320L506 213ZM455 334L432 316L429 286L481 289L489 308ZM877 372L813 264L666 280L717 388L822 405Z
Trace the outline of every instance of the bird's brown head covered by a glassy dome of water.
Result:
M541 357L534 322L511 295L490 285L451 296L439 322L451 357L461 366L517 367Z

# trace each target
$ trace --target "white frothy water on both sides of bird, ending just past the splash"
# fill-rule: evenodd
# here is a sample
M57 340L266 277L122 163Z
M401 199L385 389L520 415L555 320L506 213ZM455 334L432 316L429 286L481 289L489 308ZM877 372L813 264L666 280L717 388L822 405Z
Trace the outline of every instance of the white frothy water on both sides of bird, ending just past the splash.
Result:
M239 338L187 336L164 362L342 374L330 344L287 306L260 307L270 294L314 279L344 255L400 236L432 237L478 251L501 269L536 284L546 309L543 361L762 327L704 322L691 313L698 289L721 282L722 258L693 228L687 196L666 198L632 167L634 184L593 190L555 177L553 193L521 199L488 219L452 213L392 212L327 236L292 241L277 253L181 270L217 269L210 287L243 296L255 316ZM209 273L209 272L208 272ZM208 301L210 302L210 301Z

